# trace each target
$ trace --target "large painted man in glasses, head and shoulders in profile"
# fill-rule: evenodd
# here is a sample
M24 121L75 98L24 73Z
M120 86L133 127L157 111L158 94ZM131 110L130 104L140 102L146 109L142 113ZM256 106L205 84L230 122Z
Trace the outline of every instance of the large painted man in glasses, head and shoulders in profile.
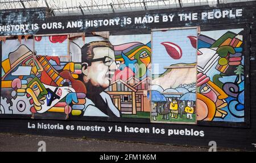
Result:
M84 116L121 117L120 111L104 90L118 68L114 48L109 41L93 41L81 48L82 81L87 94Z

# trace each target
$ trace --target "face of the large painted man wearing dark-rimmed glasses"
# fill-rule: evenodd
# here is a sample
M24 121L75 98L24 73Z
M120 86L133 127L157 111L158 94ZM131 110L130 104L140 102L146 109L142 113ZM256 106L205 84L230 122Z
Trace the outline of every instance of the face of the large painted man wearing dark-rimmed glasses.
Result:
M85 70L84 81L92 82L93 86L106 88L110 85L112 76L117 69L115 64L114 51L108 47L98 47L93 49L93 60L102 58L101 61L93 61Z

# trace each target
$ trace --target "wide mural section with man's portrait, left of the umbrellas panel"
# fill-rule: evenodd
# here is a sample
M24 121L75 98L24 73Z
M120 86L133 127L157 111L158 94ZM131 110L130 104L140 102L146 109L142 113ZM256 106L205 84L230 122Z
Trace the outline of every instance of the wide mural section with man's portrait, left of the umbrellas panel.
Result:
M150 35L122 37L122 44L112 44L100 36L36 36L35 49L33 39L7 40L1 114L150 118Z

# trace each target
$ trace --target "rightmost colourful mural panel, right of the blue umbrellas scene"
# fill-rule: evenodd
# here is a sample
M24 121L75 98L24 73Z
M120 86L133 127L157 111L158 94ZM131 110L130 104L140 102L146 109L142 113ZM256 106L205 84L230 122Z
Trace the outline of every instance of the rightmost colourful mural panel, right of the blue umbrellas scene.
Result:
M198 120L244 122L242 31L205 31L198 37Z

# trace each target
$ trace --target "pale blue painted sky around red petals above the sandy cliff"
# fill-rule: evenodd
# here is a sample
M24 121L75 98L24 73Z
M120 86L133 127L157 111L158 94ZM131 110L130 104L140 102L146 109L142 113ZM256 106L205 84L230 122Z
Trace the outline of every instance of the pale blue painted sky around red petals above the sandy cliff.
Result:
M196 49L192 47L191 41L187 36L197 36L197 29L183 29L183 30L168 30L168 31L154 31L152 32L152 73L155 71L155 63L159 64L159 74L166 71L164 66L173 64L186 63L192 64L196 62ZM182 56L179 59L174 59L166 50L166 47L161 43L171 42L182 50ZM176 48L177 49L177 48ZM169 62L167 62L169 60ZM157 69L157 68L156 68Z

